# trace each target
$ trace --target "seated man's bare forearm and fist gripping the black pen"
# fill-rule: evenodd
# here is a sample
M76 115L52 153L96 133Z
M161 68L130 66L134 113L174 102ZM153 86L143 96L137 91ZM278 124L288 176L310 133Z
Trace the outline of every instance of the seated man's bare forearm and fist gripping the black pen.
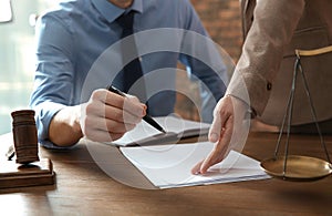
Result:
M96 90L89 102L66 106L55 114L49 128L50 141L60 146L73 145L83 136L112 142L133 130L145 114L146 105L137 97Z

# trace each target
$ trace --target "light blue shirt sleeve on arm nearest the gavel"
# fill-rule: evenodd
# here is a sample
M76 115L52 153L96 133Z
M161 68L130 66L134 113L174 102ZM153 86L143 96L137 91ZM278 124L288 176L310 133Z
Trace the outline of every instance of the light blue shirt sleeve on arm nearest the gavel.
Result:
M43 144L48 143L52 117L69 105L72 95L73 42L63 20L52 13L43 16L35 30L37 69L30 107L35 111L38 137Z

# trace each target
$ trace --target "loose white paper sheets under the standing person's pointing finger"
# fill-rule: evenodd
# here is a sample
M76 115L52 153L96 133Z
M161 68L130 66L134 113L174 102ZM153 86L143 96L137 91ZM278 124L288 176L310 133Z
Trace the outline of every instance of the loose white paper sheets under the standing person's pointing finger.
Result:
M212 143L201 142L121 147L121 151L159 188L270 178L258 161L235 151L221 163L210 167L207 174L193 175L190 169L204 160L212 147Z

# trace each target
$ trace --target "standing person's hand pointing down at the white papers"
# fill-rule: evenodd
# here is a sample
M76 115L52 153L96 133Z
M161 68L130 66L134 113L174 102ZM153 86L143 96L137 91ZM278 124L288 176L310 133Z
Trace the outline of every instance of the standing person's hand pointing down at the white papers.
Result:
M230 95L222 97L215 107L209 142L216 143L209 155L191 169L193 174L205 174L208 168L221 162L235 145L243 144L249 125L243 121L248 105ZM248 122L247 122L248 123Z

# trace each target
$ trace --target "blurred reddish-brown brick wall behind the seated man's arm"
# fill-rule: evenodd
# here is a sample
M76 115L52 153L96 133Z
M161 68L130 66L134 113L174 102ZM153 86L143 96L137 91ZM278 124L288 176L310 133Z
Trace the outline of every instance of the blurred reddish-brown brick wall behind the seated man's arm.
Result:
M190 0L211 39L237 62L242 45L242 30L239 0ZM176 113L184 119L199 121L199 107L189 97L199 97L198 86L190 83L186 73L179 72L177 89L185 94L177 95Z

